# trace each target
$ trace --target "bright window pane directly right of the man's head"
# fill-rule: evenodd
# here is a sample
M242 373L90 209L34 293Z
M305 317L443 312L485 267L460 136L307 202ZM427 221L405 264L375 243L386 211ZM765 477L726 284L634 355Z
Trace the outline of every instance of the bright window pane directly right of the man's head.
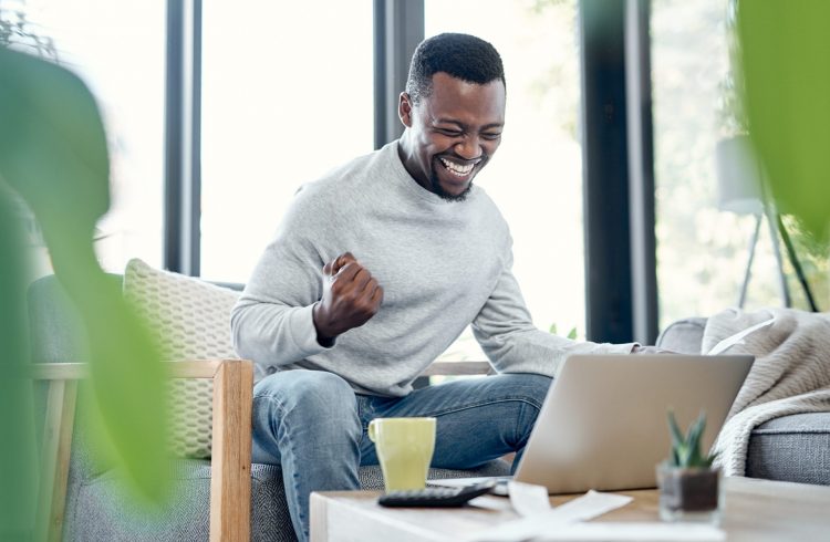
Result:
M577 2L425 1L425 34L464 32L501 54L501 146L477 177L513 238L513 273L536 325L584 336L582 150ZM469 334L449 358L479 358Z

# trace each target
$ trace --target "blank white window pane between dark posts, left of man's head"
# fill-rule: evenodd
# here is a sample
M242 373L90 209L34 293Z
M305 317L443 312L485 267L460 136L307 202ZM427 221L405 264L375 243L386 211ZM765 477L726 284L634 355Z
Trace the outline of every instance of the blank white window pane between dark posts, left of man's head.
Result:
M201 275L246 282L297 189L373 149L372 2L204 4Z

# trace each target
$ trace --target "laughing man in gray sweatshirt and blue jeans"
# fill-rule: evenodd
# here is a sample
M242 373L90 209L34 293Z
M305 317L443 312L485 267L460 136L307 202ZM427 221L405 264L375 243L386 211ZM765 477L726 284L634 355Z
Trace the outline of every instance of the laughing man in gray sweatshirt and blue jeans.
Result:
M533 327L507 223L473 184L501 140L505 96L492 45L424 41L401 139L298 192L234 309L237 351L269 373L253 394L253 460L282 466L301 540L310 492L357 489L357 467L377 462L372 418L435 416L433 465L476 467L521 454L568 355L632 351ZM499 375L413 392L468 324Z

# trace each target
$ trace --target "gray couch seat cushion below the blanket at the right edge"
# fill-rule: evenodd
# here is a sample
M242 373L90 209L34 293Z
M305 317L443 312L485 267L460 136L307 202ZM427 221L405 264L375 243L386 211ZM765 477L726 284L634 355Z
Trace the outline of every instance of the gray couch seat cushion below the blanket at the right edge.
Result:
M781 416L753 429L746 476L830 486L830 413Z

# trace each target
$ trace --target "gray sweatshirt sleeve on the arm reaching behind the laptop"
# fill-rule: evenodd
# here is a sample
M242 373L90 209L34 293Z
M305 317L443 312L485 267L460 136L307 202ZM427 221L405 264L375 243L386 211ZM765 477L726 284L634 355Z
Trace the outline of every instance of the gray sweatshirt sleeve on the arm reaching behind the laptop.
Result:
M630 354L635 343L577 342L537 329L512 274L512 253L496 288L473 322L473 333L499 373L556 376L572 354Z

